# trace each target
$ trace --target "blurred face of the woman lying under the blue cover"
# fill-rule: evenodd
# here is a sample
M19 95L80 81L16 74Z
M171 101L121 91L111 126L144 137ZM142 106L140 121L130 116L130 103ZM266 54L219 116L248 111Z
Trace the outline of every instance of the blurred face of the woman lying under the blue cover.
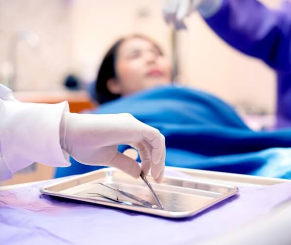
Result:
M171 82L170 61L150 41L125 40L115 60L115 93L121 96Z

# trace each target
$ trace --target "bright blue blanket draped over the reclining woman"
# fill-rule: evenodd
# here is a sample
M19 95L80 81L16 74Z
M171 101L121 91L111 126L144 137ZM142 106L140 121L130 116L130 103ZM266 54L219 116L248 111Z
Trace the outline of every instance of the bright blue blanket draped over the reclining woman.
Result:
M124 112L166 137L167 166L291 177L291 129L252 131L229 105L205 92L158 87L108 102L92 113ZM56 176L98 168L71 162L71 167L58 169Z

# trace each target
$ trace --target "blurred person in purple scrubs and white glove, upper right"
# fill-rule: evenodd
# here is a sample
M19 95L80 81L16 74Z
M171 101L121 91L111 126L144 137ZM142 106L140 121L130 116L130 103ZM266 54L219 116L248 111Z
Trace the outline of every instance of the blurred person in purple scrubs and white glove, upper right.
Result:
M165 20L181 28L195 10L229 45L274 69L277 128L291 126L291 1L270 9L257 0L168 0Z

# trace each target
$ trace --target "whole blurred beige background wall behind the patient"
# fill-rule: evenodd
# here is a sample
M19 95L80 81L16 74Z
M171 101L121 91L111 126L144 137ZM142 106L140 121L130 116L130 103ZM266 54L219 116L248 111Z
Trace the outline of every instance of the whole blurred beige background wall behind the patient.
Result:
M151 36L171 56L171 27L161 14L164 0L0 0L0 68L9 40L29 28L40 46L19 44L17 88L62 88L67 73L95 77L104 52L120 36ZM279 0L263 0L276 6ZM209 91L231 104L248 103L274 111L275 74L261 61L228 47L198 14L178 33L180 82Z

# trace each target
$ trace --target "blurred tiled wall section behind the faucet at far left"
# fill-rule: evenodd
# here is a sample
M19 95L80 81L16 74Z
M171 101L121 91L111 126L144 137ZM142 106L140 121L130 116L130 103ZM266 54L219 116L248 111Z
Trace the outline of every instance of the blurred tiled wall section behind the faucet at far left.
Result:
M6 67L12 37L29 29L40 44L31 49L17 45L17 90L53 90L71 66L70 4L67 0L0 0L0 77ZM6 70L6 69L5 69Z

